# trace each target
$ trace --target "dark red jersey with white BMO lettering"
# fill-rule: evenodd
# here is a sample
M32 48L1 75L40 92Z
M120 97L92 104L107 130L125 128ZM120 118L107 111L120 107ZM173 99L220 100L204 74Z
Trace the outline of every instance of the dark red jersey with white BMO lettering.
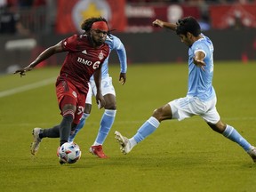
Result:
M88 92L90 77L108 57L108 44L96 49L90 44L88 36L74 35L62 40L62 46L68 55L60 69L60 76L73 83L80 92Z

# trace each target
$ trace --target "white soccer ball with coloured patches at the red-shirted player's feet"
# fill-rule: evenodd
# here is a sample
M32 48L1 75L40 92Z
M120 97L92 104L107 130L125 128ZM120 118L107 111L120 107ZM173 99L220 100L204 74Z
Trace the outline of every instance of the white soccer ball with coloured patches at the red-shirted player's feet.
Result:
M57 156L59 157L60 164L75 164L81 157L81 150L75 142L66 142L58 148Z

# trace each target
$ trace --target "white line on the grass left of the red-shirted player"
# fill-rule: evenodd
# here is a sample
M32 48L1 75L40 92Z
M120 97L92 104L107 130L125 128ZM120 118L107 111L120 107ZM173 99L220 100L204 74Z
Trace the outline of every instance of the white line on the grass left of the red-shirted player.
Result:
M34 84L27 84L27 85L17 87L17 88L11 89L11 90L6 90L4 92L0 92L0 98L6 97L6 96L9 96L9 95L12 95L12 94L16 94L18 92L25 92L25 91L28 91L28 90L36 89L38 87L41 87L41 86L44 86L44 85L47 85L47 84L52 84L52 83L54 83L55 80L56 80L56 77L54 77L54 78L52 77L52 78L45 79L45 80L40 81L40 82L36 82Z

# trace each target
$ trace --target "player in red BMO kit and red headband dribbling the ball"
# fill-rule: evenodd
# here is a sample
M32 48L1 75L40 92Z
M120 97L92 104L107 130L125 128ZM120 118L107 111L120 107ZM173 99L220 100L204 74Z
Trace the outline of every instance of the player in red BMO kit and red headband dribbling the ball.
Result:
M105 44L106 38L110 34L108 22L101 17L90 18L84 20L81 28L86 31L84 35L74 35L60 41L60 43L42 52L26 68L15 71L15 74L19 73L20 76L25 76L27 71L32 70L53 54L68 52L56 81L56 95L62 121L49 129L33 129L32 155L36 155L39 144L45 137L60 138L60 146L68 141L71 130L76 128L76 124L79 123L83 115L85 99L89 89L88 83L92 75L97 87L96 100L100 104L100 108L105 105L100 89L100 68L109 55L109 46ZM62 163L60 161L60 164Z

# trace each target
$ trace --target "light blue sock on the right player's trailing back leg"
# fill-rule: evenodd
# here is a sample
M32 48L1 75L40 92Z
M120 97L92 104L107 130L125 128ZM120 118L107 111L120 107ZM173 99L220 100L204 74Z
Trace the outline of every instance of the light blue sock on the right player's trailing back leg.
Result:
M229 140L233 140L237 144L239 144L244 150L247 152L252 147L250 143L247 142L247 140L244 140L244 138L236 131L236 129L230 125L227 124L227 127L225 131L222 133L226 138Z

